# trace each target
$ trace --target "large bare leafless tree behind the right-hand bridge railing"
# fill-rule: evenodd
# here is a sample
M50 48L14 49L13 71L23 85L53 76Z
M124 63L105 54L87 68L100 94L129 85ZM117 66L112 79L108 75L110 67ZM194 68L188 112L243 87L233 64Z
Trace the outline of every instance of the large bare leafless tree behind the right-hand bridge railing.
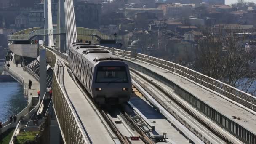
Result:
M201 28L203 37L197 43L196 68L199 72L221 80L245 92L255 93L251 87L256 75L248 69L248 62L255 57L256 50L243 46L245 35L240 25L220 25L219 29Z

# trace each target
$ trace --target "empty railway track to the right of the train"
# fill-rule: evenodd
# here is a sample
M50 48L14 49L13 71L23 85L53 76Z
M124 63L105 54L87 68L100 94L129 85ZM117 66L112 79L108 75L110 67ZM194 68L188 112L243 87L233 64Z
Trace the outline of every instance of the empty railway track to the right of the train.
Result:
M214 135L216 135L219 139L221 139L222 141L224 141L227 144L235 144L234 141L230 140L227 136L223 135L222 133L220 133L218 130L216 130L215 128L213 128L213 126L211 126L210 124L208 124L205 120L203 120L201 117L197 116L197 114L195 114L195 112L193 112L192 110L190 110L188 107L186 107L184 104L182 104L178 99L174 98L173 96L171 96L168 92L166 92L165 90L163 90L163 88L161 88L159 85L157 85L156 83L152 82L151 80L147 79L147 77L144 77L143 75L141 75L139 72L136 72L133 69L130 69L131 72L133 72L134 74L136 74L137 76L141 77L143 80L146 80L148 83L150 83L151 85L153 85L155 88L157 88L159 91L161 91L163 94L165 94L166 96L168 96L168 98L170 98L173 102L175 102L179 107L181 107L185 112L187 112L187 114L189 114L191 117L193 117L195 120L197 120L198 123L200 123L201 125L203 125L205 128L207 128L209 131L211 131ZM141 86L148 92L148 93L152 93L150 92L150 90L148 88L146 88L141 82L139 82L138 77L133 77L133 80L135 80L137 83L141 84ZM152 95L153 96L153 95ZM153 96L153 98L162 106L164 107L171 115L173 115L173 112L168 108L168 106L161 101L159 98L157 99L155 96ZM173 115L173 117L175 117L177 120L179 120L179 118L176 115ZM179 120L180 121L180 120ZM180 121L182 124L184 124L182 121ZM184 125L185 127L187 127L187 125ZM188 128L189 129L189 128ZM190 129L189 129L190 130ZM194 133L199 139L201 139L202 141L204 141L205 143L208 143L208 141L205 141L205 139L202 139L200 136L198 136L198 133L195 133L194 131L191 131L192 133Z

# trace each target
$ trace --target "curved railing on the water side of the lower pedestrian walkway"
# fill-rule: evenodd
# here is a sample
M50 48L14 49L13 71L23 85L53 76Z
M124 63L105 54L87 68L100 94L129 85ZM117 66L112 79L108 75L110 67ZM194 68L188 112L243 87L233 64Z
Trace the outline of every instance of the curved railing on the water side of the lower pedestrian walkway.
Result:
M3 66L3 71L11 75L15 80L17 80L23 86L24 96L29 96L29 88L27 83L24 82L24 78L21 77L17 72L13 71L10 67Z

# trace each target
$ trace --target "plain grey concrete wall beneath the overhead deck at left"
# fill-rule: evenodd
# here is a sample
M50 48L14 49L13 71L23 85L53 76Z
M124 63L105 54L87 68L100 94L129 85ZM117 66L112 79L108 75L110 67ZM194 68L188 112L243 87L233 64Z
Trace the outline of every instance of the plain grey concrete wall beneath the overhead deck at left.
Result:
M37 58L38 45L32 44L10 44L10 50L19 56Z

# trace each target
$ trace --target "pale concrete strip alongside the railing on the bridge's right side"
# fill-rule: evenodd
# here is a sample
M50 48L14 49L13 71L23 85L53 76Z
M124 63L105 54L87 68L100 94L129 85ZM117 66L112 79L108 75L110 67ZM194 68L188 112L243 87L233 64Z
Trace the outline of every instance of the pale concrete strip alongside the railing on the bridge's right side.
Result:
M129 59L125 59L126 61ZM239 125L246 128L251 133L256 134L256 115L253 115L251 112L232 104L231 102L217 96L210 91L207 91L198 85L189 82L177 75L174 75L170 72L167 72L163 69L158 67L154 67L152 65L143 63L141 61L131 61L135 64L141 65L147 69L150 69L152 72L155 72L163 77L167 78L168 80L172 81L176 85L179 85L181 88L185 89L187 92L191 93L205 104L208 104L210 107L225 115L229 119L233 120L234 122L238 123ZM240 117L240 119L233 119L232 116Z

